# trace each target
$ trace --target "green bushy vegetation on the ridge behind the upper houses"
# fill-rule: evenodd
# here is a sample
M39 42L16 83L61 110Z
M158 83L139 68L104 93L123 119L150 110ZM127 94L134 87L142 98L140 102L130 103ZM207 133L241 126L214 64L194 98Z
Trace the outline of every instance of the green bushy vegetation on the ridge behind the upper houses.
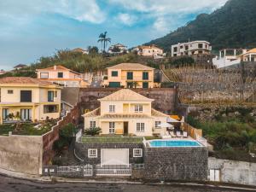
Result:
M39 68L52 67L54 65L62 65L79 73L102 71L106 67L110 67L122 62L140 62L152 67L159 67L157 61L153 58L143 57L135 54L124 55L102 55L98 54L93 48L89 55L79 52L73 52L68 49L58 50L55 55L41 57L38 62L32 63L31 66L4 73L0 77L7 76L25 76L36 77L35 70Z

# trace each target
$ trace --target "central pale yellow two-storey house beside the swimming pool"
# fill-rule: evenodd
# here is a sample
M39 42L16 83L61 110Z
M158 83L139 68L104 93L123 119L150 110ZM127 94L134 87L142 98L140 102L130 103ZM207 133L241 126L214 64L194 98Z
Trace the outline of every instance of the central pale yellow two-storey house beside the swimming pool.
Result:
M151 107L153 99L122 89L99 99L101 107L85 113L84 129L101 127L102 134L152 136L160 134L168 115Z

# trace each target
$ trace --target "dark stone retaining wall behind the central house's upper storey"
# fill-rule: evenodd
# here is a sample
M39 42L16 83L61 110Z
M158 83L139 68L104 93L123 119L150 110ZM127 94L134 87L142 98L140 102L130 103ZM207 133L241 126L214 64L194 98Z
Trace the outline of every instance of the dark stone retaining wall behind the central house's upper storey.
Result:
M81 88L79 91L79 102L82 108L93 110L100 107L100 99L108 96L119 89L115 88ZM173 113L176 102L176 89L174 88L154 88L154 89L132 89L137 93L154 99L152 107L162 113ZM68 102L68 100L66 100Z

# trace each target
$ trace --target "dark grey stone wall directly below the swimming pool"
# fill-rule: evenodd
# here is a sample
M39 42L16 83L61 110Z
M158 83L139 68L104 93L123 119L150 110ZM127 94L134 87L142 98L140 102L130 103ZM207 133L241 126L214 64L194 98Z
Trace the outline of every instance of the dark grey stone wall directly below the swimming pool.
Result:
M207 148L144 148L145 179L207 180Z

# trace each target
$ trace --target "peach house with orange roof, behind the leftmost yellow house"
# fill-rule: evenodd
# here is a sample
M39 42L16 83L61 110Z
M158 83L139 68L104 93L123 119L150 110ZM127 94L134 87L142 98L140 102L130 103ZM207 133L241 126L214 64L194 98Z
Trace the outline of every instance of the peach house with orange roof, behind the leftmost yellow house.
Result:
M64 87L87 87L89 84L84 81L82 74L67 67L53 66L37 69L38 79L46 80Z

